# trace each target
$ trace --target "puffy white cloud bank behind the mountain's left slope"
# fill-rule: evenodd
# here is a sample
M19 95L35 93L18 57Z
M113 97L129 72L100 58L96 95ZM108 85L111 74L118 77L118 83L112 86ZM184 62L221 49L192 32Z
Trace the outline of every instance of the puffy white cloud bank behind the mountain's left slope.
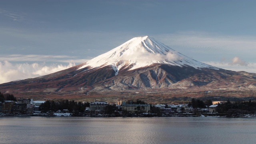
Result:
M52 64L50 66L46 66L45 63L12 64L8 61L3 61L0 62L0 84L14 80L44 76L46 74L51 74L53 72L70 68L72 66L75 66L75 64Z

